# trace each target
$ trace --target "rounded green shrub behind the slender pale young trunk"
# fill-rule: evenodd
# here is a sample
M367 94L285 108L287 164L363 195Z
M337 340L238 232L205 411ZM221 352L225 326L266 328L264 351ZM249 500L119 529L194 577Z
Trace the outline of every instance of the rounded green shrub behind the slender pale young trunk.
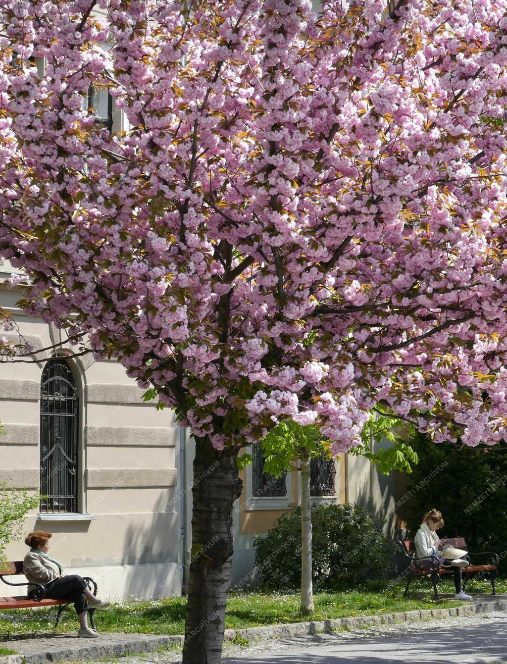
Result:
M352 586L384 578L393 545L382 523L357 505L312 505L313 583L321 588ZM301 584L301 507L283 513L267 536L255 539L255 566L267 588Z

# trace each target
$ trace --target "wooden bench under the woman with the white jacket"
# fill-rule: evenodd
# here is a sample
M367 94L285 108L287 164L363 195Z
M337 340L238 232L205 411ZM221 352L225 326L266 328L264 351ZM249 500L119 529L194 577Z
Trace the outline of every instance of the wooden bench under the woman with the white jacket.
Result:
M445 540L446 544L452 544L455 548L464 548L467 549L467 542L463 537L447 538ZM435 599L438 600L439 595L437 592L437 583L441 579L443 574L453 574L454 568L442 567L437 556L431 556L431 558L417 558L415 554L415 544L413 540L398 540L396 542L399 548L405 554L405 560L409 561L409 566L407 567L407 585L405 586L405 592L403 597L407 596L407 592L411 582L415 578L431 578L433 582L433 590L435 590ZM482 556L485 560L482 564L472 564L471 558L478 558ZM472 578L476 576L488 576L491 582L492 595L496 595L494 588L494 582L498 576L498 562L500 558L496 553L491 551L483 551L480 553L467 553L466 556L463 556L465 560L468 560L471 564L468 567L463 567L463 592L467 587L467 583Z

